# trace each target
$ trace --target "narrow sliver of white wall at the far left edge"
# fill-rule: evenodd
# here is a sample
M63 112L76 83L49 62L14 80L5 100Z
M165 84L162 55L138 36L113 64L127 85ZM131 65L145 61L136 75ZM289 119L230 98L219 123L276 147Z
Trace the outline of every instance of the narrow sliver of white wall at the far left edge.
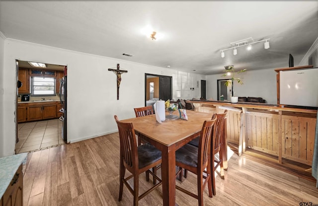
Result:
M4 58L4 35L0 32L0 157L3 156L3 95L2 95L2 89L3 89L3 58Z

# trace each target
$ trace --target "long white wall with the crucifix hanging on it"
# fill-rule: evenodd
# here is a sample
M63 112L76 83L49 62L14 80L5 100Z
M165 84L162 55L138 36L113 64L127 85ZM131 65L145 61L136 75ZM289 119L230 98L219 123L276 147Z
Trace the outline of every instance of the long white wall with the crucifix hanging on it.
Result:
M197 80L204 75L188 74L172 69L159 68L133 62L84 54L45 45L13 39L4 41L4 155L14 153L15 145L15 59L68 66L68 140L76 142L117 130L114 121L135 116L134 107L145 105L145 73L172 76L173 98L200 97ZM117 100L117 77L108 68L128 70L122 74L119 100ZM1 75L2 76L2 75ZM195 82L195 85L193 85ZM194 87L194 91L186 91ZM193 86L192 86L193 85ZM175 92L178 88L180 92Z

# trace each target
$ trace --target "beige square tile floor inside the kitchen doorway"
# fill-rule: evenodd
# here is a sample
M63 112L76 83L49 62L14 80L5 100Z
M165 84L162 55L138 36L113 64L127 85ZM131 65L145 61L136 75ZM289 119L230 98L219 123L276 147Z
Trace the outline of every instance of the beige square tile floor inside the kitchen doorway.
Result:
M65 144L59 119L19 123L18 138L19 142L15 144L17 154Z

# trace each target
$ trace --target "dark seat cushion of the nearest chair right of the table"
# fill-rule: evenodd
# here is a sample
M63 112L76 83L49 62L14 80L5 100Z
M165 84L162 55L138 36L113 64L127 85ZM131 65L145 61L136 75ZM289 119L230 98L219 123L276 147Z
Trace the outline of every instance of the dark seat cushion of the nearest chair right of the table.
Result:
M198 148L190 144L186 144L175 151L175 162L197 167L198 165Z

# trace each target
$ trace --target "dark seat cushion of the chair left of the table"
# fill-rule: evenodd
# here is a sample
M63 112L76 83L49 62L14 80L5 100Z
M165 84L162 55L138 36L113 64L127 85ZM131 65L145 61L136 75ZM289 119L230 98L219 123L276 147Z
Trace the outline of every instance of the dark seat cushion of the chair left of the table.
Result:
M137 147L138 149L138 161L139 169L144 168L159 159L161 159L161 151L158 150L154 145L146 143Z

